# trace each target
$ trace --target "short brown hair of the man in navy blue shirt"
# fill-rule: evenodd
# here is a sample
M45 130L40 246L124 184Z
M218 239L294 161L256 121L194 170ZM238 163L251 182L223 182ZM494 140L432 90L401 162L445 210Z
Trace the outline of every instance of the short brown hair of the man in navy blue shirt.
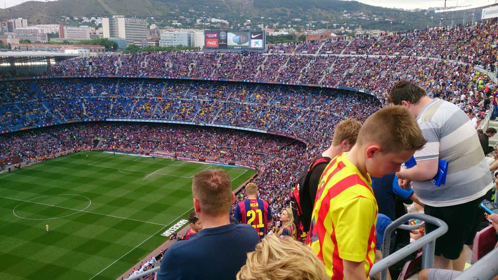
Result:
M218 216L228 213L233 202L230 175L223 169L209 169L195 174L192 195L207 214Z

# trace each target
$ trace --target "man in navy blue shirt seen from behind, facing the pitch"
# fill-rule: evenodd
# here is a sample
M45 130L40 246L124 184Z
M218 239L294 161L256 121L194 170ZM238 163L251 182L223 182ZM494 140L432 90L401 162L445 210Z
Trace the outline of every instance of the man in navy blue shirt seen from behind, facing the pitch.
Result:
M235 280L259 238L250 225L230 223L230 175L223 169L195 174L192 195L202 230L164 253L157 280Z

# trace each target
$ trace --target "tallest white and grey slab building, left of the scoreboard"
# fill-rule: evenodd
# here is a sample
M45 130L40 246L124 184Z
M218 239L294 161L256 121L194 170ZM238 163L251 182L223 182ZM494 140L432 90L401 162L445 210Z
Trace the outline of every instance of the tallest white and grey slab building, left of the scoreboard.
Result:
M147 20L143 18L113 15L102 19L104 38L125 38L126 45L147 37Z

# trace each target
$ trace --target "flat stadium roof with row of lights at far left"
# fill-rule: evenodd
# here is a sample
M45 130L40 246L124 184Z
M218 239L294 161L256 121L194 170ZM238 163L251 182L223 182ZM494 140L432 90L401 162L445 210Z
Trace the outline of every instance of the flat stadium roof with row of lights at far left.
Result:
M0 63L61 61L80 56L52 51L0 51Z

